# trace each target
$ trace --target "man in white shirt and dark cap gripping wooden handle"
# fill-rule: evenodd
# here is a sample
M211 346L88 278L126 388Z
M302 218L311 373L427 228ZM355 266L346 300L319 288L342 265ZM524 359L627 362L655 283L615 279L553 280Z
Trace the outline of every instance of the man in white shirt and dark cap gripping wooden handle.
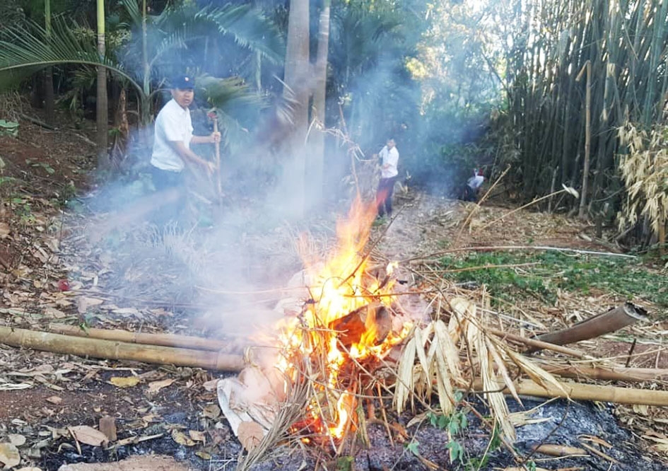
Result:
M156 190L183 185L186 165L213 172L213 163L205 161L190 149L190 144L213 144L221 140L221 133L193 136L189 105L194 100L194 80L186 75L175 76L170 82L172 99L156 117L156 137L151 154L153 185Z

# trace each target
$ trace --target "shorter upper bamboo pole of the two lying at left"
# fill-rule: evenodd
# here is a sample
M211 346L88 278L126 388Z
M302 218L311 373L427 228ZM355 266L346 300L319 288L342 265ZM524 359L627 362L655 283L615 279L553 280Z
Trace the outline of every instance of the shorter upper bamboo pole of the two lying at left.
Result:
M74 335L75 337L88 337L90 339L114 340L116 342L127 342L130 344L161 345L163 347L183 347L187 349L229 351L230 342L216 339L203 339L190 335L174 334L145 334L129 332L119 329L86 329L76 325L49 324L49 331L62 334Z

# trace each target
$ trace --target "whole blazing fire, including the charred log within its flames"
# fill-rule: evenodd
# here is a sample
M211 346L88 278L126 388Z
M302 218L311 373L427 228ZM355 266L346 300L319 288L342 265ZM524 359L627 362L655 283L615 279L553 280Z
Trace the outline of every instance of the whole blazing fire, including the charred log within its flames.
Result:
M368 273L363 250L374 217L375 207L357 201L348 218L336 225L332 255L324 263L304 260L312 299L298 317L286 318L280 328L284 354L279 371L288 380L302 373L315 385L307 419L293 425L304 435L329 440L355 429L363 365L382 358L411 328L392 330L396 264Z

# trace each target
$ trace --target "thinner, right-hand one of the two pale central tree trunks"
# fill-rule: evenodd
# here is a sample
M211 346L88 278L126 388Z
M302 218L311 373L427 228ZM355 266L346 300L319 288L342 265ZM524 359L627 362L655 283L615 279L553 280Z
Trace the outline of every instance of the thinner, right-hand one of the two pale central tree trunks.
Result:
M320 23L318 25L317 59L315 62L315 87L313 90L313 106L311 119L316 120L322 130L311 127L310 141L310 165L309 165L309 196L318 204L322 201L322 184L324 171L324 126L325 105L327 103L327 54L329 50L329 4L330 0L324 0L320 12Z

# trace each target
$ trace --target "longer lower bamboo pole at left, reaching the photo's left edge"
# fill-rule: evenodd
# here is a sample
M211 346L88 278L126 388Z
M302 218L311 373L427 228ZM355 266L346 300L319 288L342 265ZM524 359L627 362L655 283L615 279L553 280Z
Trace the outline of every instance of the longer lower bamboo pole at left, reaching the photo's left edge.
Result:
M111 340L88 339L27 329L0 327L0 343L53 353L93 356L102 359L143 361L154 364L193 366L216 371L241 371L241 355L212 351L128 344Z

